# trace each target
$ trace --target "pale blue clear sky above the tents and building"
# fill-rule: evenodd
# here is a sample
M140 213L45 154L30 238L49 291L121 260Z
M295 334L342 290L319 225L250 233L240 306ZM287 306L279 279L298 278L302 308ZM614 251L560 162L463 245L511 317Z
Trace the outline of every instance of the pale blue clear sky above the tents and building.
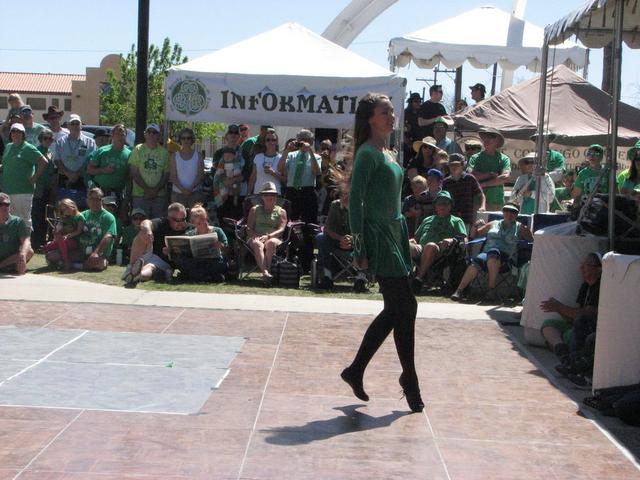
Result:
M195 58L224 48L256 33L270 30L288 21L301 23L322 33L349 0L240 0L237 2L204 0L150 0L150 42L159 44L169 37L182 45L185 54ZM585 0L529 0L525 19L544 27L583 5ZM137 1L77 2L32 0L28 23L16 29L0 30L0 70L22 72L84 73L85 67L98 66L108 53L126 52L136 42ZM491 3L510 11L512 0L399 0L380 15L351 45L351 50L380 64L388 65L389 39L413 32L472 8ZM8 20L10 22L11 20ZM31 29L31 35L26 26ZM248 59L250 61L250 59ZM274 61L278 61L277 58ZM640 52L623 52L623 101L640 106ZM318 65L322 69L322 65ZM600 86L602 54L591 52L589 80ZM421 91L433 72L411 65L401 69L408 89ZM524 69L516 71L514 81L530 78ZM445 92L453 96L453 82L445 77ZM490 70L477 70L465 64L463 95L467 85L491 83ZM500 85L498 81L498 86Z

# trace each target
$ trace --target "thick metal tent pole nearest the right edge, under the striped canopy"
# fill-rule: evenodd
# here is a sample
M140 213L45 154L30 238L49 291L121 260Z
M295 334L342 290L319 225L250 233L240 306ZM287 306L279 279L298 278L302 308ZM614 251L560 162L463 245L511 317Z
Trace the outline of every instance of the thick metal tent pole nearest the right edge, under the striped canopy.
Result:
M616 170L618 160L618 107L620 103L620 74L622 65L622 28L623 28L623 0L616 0L615 6L615 36L613 40L613 72L611 75L611 151L609 161L609 250L614 250L615 239L615 200L616 200Z

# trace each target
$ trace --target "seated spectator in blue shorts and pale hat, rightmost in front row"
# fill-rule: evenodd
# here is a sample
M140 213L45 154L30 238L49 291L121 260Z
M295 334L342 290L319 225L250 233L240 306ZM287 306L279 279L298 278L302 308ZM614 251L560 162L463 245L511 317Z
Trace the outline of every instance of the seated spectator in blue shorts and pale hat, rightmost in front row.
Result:
M465 289L478 276L480 270L488 272L489 290L485 295L485 300L499 300L496 292L498 274L511 269L514 257L517 253L518 241L533 241L533 234L526 225L517 221L520 209L513 203L506 203L502 207L502 220L484 223L478 220L471 231L471 238L486 235L486 241L482 252L471 259L471 264L464 272L462 280L456 291L451 295L452 300L461 300Z

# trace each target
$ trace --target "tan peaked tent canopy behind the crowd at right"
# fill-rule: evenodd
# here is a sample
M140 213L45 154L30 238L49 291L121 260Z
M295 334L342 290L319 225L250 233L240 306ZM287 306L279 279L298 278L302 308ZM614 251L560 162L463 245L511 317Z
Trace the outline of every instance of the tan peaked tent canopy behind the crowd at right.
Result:
M564 65L547 73L547 88L551 108L545 117L545 129L558 136L557 142L607 144L611 116L608 93ZM540 77L507 88L454 116L456 126L463 130L491 126L506 137L528 139L537 130L539 89ZM633 145L640 138L640 110L621 102L619 112L619 144Z

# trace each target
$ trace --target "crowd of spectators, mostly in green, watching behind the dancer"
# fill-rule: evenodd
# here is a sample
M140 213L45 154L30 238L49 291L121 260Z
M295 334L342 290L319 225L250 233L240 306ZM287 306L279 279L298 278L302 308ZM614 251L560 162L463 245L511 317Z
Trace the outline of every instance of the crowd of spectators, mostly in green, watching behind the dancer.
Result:
M484 86L469 88L472 99L482 102ZM588 166L577 174L565 171L564 158L555 150L548 149L543 172L535 170L535 155L517 159L520 175L505 205L512 159L502 152L503 135L483 128L477 136L455 139L442 97L439 85L429 89L425 102L417 93L409 96L404 141L398 145L404 152L402 214L416 265L414 289L420 291L431 265L448 255L454 243L486 235L483 252L453 297L461 297L485 270L491 298L496 272L511 261L512 240L530 239L513 213L532 213L537 193L542 212L580 202L594 190L606 193L604 149L592 145ZM344 152L328 139L316 139L311 130L283 140L269 125L254 136L247 125L228 125L207 171L190 128L177 132L172 148L166 148L160 127L151 123L144 142L130 148L125 125L97 132L94 139L83 132L77 114L70 114L63 127L65 112L51 106L43 115L47 125L42 125L18 95L9 103L1 132L6 140L0 204L3 270L23 273L32 252L42 251L52 267L65 270L99 271L121 262L127 265L123 279L129 286L172 280L176 272L185 281L225 281L233 276L236 252L228 239L233 232L223 219L240 221L247 215L248 245L267 285L287 222L314 226L302 230L296 258L302 271L309 271L317 249L320 288L333 288L332 253L348 256L353 250L348 186L336 180L348 164L348 151L338 155ZM553 140L546 135L547 143ZM640 185L640 144L630 150L629 159L631 168L620 174L618 188L631 195ZM261 201L245 212L244 200L251 195ZM274 201L277 197L288 202L286 211ZM478 222L484 211L503 212L504 219ZM216 234L217 253L203 262L172 256L165 244L167 236L210 233Z

